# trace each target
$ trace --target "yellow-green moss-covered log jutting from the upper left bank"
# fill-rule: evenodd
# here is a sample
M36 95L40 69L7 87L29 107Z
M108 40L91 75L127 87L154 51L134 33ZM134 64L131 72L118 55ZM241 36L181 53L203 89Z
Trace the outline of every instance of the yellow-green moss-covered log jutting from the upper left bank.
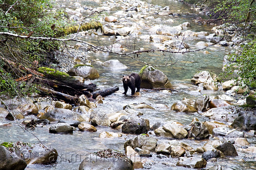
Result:
M77 33L77 30L79 29L80 24L75 25L75 26L69 26L63 29L63 31L59 31L58 35L69 35L69 34L74 34ZM91 30L91 29L95 29L96 31L98 29L101 30L101 32L103 32L103 27L102 24L100 22L96 22L96 21L92 21L89 23L83 23L79 29L80 31L87 31L87 30Z

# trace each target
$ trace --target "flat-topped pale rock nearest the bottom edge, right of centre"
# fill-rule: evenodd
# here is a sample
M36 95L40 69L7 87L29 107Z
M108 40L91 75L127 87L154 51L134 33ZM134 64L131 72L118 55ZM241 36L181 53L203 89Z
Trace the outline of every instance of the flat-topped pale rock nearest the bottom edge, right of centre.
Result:
M176 166L183 166L186 168L205 168L206 160L198 157L179 158Z

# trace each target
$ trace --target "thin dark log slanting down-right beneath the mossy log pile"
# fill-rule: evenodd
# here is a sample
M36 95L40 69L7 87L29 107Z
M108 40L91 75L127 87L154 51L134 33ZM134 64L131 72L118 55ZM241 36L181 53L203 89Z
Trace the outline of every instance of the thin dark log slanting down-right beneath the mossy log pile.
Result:
M76 104L76 105L78 104L78 98L75 96L70 96L65 93L61 93L61 92L54 91L52 89L44 88L44 87L38 87L38 89L45 92L48 95L54 96L58 100L63 100L65 102L71 103L71 104Z

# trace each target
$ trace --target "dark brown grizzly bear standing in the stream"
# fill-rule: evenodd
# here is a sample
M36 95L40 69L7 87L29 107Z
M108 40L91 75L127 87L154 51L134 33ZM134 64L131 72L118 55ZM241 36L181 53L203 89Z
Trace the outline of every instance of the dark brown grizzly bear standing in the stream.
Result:
M123 75L123 85L125 89L125 92L123 92L123 94L126 95L128 87L130 87L131 95L134 95L135 87L137 88L136 92L140 91L140 84L141 84L141 79L139 74L131 73L130 75Z

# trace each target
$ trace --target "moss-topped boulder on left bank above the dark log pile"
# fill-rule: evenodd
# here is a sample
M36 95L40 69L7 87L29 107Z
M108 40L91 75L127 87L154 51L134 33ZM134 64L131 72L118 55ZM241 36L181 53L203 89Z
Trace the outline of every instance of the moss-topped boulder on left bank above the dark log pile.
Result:
M80 76L84 79L96 79L100 75L98 71L91 65L75 65L68 71L71 76Z

